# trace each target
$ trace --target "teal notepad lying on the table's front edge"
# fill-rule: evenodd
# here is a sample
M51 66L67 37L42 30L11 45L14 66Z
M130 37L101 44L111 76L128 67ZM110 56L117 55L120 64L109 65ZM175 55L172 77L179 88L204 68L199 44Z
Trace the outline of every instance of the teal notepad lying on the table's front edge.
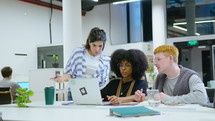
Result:
M135 117L135 116L151 116L160 115L160 112L146 108L144 106L110 108L111 116L119 117Z

